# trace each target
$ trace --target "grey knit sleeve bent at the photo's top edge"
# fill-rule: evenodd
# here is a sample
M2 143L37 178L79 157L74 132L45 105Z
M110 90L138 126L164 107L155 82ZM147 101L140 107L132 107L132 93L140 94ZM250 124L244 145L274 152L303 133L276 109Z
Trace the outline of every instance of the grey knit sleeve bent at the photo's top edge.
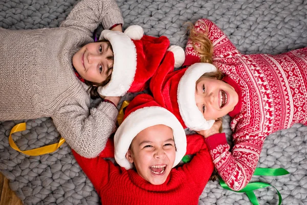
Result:
M123 25L121 11L115 0L82 0L70 12L60 27L77 29L92 36L101 23L104 29Z

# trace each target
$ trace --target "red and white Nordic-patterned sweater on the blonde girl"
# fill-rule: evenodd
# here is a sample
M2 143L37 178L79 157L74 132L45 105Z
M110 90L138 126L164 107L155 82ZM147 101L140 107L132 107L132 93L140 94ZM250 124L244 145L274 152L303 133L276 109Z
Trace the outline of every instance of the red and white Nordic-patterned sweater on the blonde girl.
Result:
M225 133L206 138L218 173L233 190L250 181L262 145L269 134L307 121L307 48L279 55L238 52L226 35L210 20L195 23L213 43L214 65L239 94L232 117L234 147L229 151ZM185 66L200 62L190 40L186 46Z

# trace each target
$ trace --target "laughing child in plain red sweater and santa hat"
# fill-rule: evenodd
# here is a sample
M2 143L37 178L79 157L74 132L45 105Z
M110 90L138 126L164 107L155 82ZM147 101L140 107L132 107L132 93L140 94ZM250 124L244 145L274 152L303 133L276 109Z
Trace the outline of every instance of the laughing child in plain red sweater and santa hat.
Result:
M151 96L131 101L114 144L121 167L103 159L112 156L108 150L92 159L73 151L102 204L198 204L213 171L204 137L186 137L176 117ZM190 162L173 168L185 154L195 153Z

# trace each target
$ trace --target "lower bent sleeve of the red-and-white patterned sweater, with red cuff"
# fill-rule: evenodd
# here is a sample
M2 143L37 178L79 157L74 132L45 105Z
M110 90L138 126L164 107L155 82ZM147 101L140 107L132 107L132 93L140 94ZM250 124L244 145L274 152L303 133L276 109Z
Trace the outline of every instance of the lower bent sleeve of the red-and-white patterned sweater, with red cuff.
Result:
M207 137L205 142L218 174L228 187L234 191L243 189L256 169L264 141L253 136L235 140L231 152L225 133Z

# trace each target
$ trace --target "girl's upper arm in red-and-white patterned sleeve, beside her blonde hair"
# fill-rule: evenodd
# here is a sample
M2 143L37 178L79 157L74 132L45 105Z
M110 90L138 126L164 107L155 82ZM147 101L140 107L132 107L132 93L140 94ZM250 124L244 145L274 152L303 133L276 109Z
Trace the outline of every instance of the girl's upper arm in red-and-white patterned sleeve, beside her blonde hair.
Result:
M240 54L235 46L230 42L224 32L206 18L199 19L194 24L195 31L200 35L207 35L213 44L213 60L227 58ZM195 45L200 46L200 45ZM191 66L200 63L200 56L195 51L192 41L188 39L185 48L186 59L183 66Z

